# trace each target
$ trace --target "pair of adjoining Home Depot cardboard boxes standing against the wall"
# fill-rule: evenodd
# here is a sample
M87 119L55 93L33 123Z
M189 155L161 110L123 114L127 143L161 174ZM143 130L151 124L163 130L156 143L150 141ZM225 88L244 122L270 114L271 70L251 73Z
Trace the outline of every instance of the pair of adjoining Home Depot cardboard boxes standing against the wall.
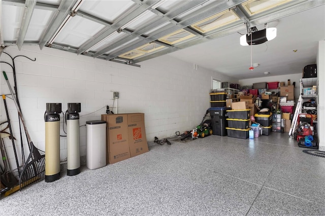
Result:
M107 164L149 151L143 113L102 115L102 120L107 122Z

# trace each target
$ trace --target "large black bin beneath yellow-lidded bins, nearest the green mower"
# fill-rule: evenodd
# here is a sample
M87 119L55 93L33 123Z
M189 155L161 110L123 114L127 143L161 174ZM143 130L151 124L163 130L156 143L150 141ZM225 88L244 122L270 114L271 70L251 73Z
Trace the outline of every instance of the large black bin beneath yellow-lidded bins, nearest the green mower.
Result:
M209 109L211 116L211 128L213 135L226 136L228 127L228 122L226 118L228 117L227 110L231 110L230 107L211 107Z

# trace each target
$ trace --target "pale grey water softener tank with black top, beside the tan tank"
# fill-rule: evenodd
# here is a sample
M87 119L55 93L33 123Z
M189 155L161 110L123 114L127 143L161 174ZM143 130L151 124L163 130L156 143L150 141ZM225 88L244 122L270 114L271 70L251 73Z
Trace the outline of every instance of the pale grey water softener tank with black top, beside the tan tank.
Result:
M67 112L67 175L72 176L80 173L79 113L81 112L81 104L68 103Z

